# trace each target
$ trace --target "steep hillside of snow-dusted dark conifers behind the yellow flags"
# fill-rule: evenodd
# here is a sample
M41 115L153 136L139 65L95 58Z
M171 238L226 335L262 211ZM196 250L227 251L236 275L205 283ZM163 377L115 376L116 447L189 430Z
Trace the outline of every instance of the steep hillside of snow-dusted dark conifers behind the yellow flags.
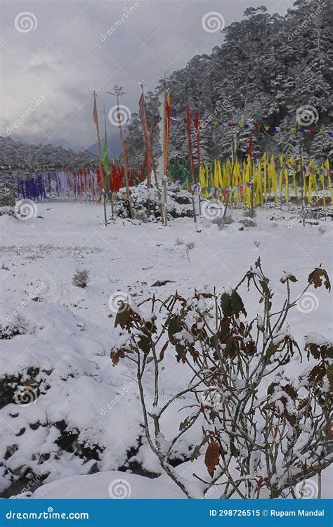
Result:
M169 75L166 86L171 95L169 160L188 157L185 112L189 101L201 126L202 160L230 155L233 128L214 126L223 122L299 126L296 112L304 105L314 108L308 128L332 129L332 5L318 0L296 0L282 17L266 7L247 8L240 22L221 32L221 46L210 55L195 56L182 70ZM152 120L159 118L159 93L147 94ZM308 116L305 116L306 119ZM303 119L304 121L304 119ZM307 124L304 123L303 126ZM193 134L193 156L196 157ZM138 116L128 126L131 164L140 166L144 145ZM158 155L158 129L153 140ZM263 152L299 153L299 136L305 157L325 160L332 153L332 138L320 134L268 133L254 131L254 155ZM249 131L240 131L240 155L246 155Z

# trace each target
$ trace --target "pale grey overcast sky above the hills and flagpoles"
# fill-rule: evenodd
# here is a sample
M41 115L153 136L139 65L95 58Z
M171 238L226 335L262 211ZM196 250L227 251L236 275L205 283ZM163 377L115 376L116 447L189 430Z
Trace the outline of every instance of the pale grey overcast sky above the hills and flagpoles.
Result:
M292 6L289 0L0 2L0 134L75 149L96 143L93 90L103 129L103 107L109 112L115 105L107 91L115 84L126 91L121 103L137 112L139 81L154 89L163 70L210 53L223 39L219 27L240 20L248 6L264 4L281 14ZM110 120L107 132L117 150Z

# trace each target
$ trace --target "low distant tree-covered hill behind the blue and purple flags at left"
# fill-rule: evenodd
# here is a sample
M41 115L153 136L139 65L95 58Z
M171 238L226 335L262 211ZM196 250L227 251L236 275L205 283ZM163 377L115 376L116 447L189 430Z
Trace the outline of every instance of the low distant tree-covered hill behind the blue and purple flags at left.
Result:
M0 167L34 167L41 164L71 165L96 162L97 157L89 150L74 152L61 146L27 145L0 136Z

